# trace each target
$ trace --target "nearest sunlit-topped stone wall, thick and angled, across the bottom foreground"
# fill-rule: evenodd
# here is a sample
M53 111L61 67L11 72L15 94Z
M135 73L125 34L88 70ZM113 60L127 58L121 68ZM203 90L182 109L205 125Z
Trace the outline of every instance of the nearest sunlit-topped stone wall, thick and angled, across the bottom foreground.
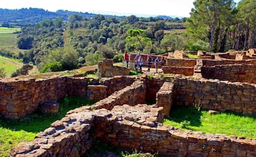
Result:
M111 99L106 98L106 99ZM203 134L161 125L163 108L138 104L91 110L84 106L19 143L11 156L82 156L95 139L129 150L165 156L256 156L256 141L221 134Z

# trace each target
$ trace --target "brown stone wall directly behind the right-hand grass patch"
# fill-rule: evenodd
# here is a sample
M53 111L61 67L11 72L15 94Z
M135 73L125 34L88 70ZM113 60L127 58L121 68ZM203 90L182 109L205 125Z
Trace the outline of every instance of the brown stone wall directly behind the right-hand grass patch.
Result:
M216 111L256 113L256 85L177 77L173 104Z

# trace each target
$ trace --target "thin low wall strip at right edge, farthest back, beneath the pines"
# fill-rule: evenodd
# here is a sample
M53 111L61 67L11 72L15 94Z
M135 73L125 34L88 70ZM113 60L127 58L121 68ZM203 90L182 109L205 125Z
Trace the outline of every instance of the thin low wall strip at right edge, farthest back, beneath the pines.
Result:
M234 60L234 59L224 59L224 60L211 60L203 59L203 66L217 66L217 65L229 65L229 64L253 64L256 65L256 60Z

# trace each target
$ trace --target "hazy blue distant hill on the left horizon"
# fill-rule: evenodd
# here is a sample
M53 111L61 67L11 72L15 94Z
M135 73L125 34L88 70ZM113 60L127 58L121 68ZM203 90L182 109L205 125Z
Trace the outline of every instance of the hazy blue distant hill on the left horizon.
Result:
M0 23L2 27L15 27L15 26L28 26L33 25L35 23L41 22L42 20L53 20L62 17L62 19L69 20L70 15L79 14L84 17L94 17L96 14L88 13L88 12L72 12L72 11L63 11L59 10L56 12L46 11L45 9L38 8L23 8L23 9L0 9ZM116 16L116 15L105 15L105 17L117 17L124 18L124 16ZM172 19L172 17L168 16L159 16L163 19Z

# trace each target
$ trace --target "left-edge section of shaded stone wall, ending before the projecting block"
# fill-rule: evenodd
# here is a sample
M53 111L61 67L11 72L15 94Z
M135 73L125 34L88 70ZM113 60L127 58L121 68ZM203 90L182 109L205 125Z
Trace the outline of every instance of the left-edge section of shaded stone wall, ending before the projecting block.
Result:
M64 76L1 80L0 113L6 118L17 119L32 113L45 101L57 101L65 95L84 96L87 80Z

